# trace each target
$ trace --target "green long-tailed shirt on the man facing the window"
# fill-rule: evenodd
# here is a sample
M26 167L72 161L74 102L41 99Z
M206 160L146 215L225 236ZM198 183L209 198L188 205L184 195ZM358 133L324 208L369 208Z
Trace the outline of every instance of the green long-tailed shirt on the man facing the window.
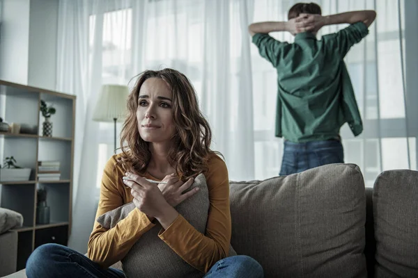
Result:
M358 22L321 40L312 33L299 33L292 44L267 34L253 36L261 56L277 69L276 136L293 142L328 140L339 136L344 122L350 124L355 135L361 132L361 118L343 58L368 33L367 27Z

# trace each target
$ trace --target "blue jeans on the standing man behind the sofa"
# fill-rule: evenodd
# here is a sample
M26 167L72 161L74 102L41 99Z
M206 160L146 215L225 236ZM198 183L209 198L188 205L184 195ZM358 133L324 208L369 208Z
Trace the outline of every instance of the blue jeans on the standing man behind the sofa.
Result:
M279 175L295 174L321 165L344 163L341 141L325 140L304 143L284 141Z

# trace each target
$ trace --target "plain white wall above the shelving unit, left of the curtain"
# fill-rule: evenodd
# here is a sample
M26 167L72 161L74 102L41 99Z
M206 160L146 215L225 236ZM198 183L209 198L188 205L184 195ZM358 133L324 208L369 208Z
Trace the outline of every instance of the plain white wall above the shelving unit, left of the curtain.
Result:
M58 0L3 0L0 79L55 90Z

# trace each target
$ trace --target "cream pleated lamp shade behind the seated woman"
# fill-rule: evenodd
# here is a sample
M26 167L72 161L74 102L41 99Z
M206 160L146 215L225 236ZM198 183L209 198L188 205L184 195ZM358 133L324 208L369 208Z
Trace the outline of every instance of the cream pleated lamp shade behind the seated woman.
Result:
M97 122L123 122L126 117L126 101L129 88L125 85L105 84L98 97L93 121Z

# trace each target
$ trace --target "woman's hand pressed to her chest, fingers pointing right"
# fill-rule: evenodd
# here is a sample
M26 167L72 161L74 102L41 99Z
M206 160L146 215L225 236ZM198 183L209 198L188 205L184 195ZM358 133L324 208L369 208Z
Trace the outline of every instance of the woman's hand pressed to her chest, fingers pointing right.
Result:
M183 183L176 174L169 174L162 181L167 182L167 184L159 183L158 188L160 188L164 199L173 207L199 192L199 188L196 187L182 194L187 188L192 186L194 178L190 178Z

